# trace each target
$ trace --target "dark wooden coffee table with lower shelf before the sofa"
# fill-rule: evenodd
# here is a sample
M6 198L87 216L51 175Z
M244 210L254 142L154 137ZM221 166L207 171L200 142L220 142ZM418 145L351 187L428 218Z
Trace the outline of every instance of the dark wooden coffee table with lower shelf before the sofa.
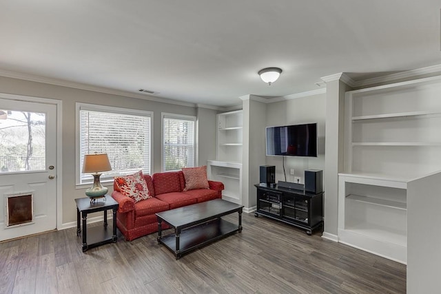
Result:
M198 249L227 235L242 231L243 205L222 199L201 202L169 211L156 213L158 217L158 243L162 243L176 256ZM237 212L238 225L223 220L222 216ZM170 235L162 235L161 224L174 229Z

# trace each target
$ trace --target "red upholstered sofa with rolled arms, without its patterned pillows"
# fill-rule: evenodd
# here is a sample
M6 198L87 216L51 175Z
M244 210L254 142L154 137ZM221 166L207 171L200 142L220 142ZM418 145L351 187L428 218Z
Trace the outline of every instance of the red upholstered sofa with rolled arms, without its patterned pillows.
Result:
M116 211L116 227L127 241L158 231L155 213L222 198L224 189L222 182L209 180L209 189L183 191L185 178L182 171L144 175L144 178L152 197L137 203L132 198L124 196L114 182L112 197L119 203L119 209ZM167 229L165 223L163 229Z

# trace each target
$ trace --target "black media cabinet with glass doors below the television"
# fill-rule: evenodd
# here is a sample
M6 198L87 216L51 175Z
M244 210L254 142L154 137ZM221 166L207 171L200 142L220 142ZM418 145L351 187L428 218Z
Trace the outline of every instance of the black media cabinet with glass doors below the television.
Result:
M266 216L306 230L308 235L323 224L323 192L254 185L257 210L254 216Z

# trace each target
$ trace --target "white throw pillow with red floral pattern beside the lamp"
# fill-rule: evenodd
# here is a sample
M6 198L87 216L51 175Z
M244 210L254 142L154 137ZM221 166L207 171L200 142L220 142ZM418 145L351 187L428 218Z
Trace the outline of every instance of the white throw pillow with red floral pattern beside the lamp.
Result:
M115 177L115 182L119 191L124 196L132 198L135 203L150 198L147 182L145 182L142 171L128 176Z

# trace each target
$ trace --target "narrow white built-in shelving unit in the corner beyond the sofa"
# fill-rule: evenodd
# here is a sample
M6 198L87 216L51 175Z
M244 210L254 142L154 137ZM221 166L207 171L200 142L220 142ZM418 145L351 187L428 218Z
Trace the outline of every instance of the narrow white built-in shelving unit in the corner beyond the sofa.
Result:
M243 111L225 112L217 116L216 160L208 160L207 174L223 182L223 199L242 204Z

